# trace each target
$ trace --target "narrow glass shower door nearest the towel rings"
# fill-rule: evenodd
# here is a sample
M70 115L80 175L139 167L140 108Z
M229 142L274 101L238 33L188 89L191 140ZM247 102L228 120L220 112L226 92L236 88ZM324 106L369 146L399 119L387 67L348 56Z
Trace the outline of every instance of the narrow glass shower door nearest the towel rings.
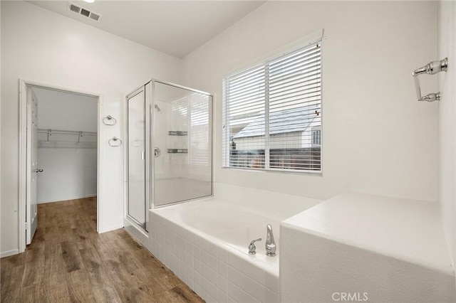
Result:
M128 216L145 228L145 89L128 103Z

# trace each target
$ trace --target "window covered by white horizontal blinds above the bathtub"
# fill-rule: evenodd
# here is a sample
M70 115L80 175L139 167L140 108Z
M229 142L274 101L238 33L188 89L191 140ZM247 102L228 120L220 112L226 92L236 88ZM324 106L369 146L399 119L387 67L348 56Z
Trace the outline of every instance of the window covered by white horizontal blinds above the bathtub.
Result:
M321 171L321 38L223 88L224 167Z

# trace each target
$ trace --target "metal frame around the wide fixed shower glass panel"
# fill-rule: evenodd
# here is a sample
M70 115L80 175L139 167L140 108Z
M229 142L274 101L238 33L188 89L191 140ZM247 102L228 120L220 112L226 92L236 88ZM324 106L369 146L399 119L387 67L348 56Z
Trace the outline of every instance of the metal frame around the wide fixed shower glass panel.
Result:
M208 110L208 115L209 115L209 119L208 119L208 129L210 130L210 134L209 134L209 149L210 149L210 153L209 153L209 156L210 156L210 159L211 159L211 167L210 167L210 170L211 170L211 193L210 195L207 195L207 196L202 196L202 197L198 197L198 198L192 198L192 199L188 199L188 200L184 200L184 201L177 201L177 202L174 202L174 203L168 203L166 205L163 205L163 206L155 206L155 195L154 195L154 191L155 191L155 157L152 157L151 154L147 154L146 158L147 157L150 157L150 209L154 209L154 208L162 208L162 207L166 207L166 206L171 206L171 205L175 205L175 204L180 204L180 203L186 203L186 202L189 202L189 201L194 201L194 200L198 200L198 199L201 199L201 198L209 198L209 197L212 197L214 196L214 132L213 132L213 126L212 126L212 117L214 115L214 96L209 94L209 92L203 92L202 90L195 90L193 88L190 88L190 87L186 87L184 85L179 85L179 84L175 84L175 83L171 83L171 82L167 82L167 81L162 81L162 80L156 80L156 79L151 79L148 83L152 83L152 86L151 86L151 100L150 100L150 151L153 151L155 149L155 127L154 127L154 122L155 122L155 83L160 83L160 84L164 84L164 85L170 85L170 86L173 86L173 87L177 87L177 88L181 88L182 90L189 90L190 92L197 92L199 94L202 94L202 95L207 95L209 96L210 98L210 101L209 101L209 110ZM148 84L146 83L146 85ZM146 137L147 137L147 134L146 134Z

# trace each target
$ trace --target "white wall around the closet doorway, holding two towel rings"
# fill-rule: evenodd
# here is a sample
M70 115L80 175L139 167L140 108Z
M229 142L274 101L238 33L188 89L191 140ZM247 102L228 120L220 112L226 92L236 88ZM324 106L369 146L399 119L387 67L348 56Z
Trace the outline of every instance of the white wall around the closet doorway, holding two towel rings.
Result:
M149 78L180 82L180 60L24 1L1 1L1 252L19 247L19 97L24 78L102 95L100 231L123 226L123 98Z

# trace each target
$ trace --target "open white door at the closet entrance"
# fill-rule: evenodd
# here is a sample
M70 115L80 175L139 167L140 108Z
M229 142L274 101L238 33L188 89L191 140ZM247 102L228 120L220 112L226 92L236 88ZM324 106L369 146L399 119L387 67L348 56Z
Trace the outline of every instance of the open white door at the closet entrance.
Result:
M27 191L26 191L26 244L31 243L38 226L38 104L33 90L27 88Z

